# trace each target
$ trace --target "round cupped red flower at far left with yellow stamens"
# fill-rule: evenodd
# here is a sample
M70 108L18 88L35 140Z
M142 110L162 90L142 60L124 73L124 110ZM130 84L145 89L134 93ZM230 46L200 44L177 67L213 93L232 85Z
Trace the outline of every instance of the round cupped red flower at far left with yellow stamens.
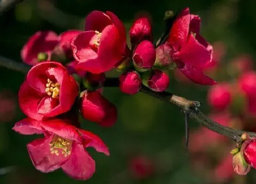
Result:
M19 90L21 110L36 120L67 112L78 95L78 85L67 69L57 62L33 66Z

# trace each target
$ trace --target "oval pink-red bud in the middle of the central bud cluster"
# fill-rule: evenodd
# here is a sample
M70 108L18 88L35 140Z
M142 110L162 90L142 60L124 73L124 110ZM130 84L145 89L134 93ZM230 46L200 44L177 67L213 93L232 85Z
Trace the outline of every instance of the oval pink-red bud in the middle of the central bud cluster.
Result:
M139 72L145 72L152 68L155 63L155 47L145 40L140 42L133 54L133 64Z

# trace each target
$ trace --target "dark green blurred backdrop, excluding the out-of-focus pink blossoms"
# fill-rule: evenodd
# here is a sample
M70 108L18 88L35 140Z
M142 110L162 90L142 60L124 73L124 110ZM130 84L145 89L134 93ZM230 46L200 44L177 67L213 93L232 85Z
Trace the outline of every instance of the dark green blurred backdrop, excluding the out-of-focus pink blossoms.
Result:
M255 0L24 0L0 16L0 55L21 62L21 48L34 32L53 30L61 33L67 29L83 29L84 18L92 10L113 11L127 30L136 14L148 13L156 40L164 28L164 12L176 12L184 7L201 16L201 33L209 42L223 41L226 44L225 60L240 53L255 57ZM114 75L116 73L109 73L109 76ZM0 89L10 89L17 96L24 77L24 74L0 68ZM206 103L208 87L181 84L172 75L170 77L168 91L201 101L203 112L209 112ZM89 150L96 160L96 173L91 179L76 181L61 170L48 174L38 172L26 149L26 144L38 136L22 136L11 130L16 121L25 117L17 106L13 121L0 123L0 168L11 166L9 172L0 172L0 184L208 183L195 174L185 155L182 141L184 117L177 107L144 94L125 95L118 88L105 88L103 94L117 106L118 121L111 128L83 122L83 127L99 135L111 152L107 157ZM194 129L198 125L191 121L190 126ZM151 158L160 168L160 172L149 179L134 179L128 169L129 159L141 154ZM255 181L254 175L252 171L252 181Z

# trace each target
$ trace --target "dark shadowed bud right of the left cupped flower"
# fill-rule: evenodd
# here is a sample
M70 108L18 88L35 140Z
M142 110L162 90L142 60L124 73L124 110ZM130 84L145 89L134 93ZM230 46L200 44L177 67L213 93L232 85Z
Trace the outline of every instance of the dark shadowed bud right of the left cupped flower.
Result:
M83 79L83 84L86 89L96 90L103 86L106 80L105 74L92 74L87 72L85 74L85 78Z

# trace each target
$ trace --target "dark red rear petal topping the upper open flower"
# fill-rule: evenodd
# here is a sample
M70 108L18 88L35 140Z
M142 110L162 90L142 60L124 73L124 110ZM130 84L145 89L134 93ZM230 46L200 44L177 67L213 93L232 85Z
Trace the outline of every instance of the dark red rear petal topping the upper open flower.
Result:
M85 31L102 32L106 26L112 23L112 20L104 12L93 11L85 18Z

